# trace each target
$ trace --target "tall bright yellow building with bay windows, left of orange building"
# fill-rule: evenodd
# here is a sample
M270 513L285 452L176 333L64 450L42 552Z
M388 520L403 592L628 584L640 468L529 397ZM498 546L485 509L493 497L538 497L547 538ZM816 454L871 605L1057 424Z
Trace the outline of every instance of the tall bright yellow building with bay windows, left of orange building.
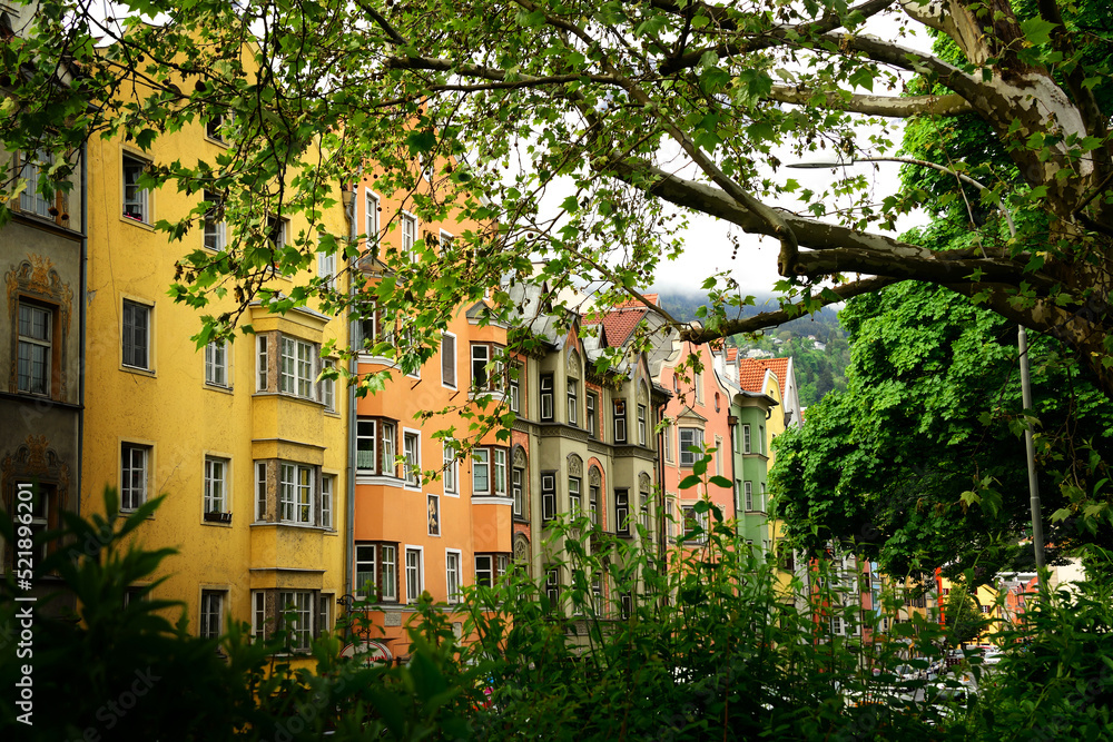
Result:
M347 323L312 309L272 315L256 303L239 320L254 336L197 349L189 338L203 313L167 290L176 261L198 249L218 255L232 230L211 218L169 243L152 225L207 199L136 182L149 165L211 160L225 146L205 123L147 152L90 140L81 509L102 509L105 485L119 489L125 511L165 494L136 536L179 550L154 575L166 581L151 596L183 601L201 635L217 635L228 619L270 631L287 607L298 619L294 642L307 646L331 627L345 592L347 394L342 382L317 379L332 363L322 345L346 346ZM323 222L348 234L342 206ZM276 240L306 228L298 219L269 225ZM318 259L315 270L335 269ZM288 293L308 278L276 276L268 286ZM206 313L232 308L229 296Z

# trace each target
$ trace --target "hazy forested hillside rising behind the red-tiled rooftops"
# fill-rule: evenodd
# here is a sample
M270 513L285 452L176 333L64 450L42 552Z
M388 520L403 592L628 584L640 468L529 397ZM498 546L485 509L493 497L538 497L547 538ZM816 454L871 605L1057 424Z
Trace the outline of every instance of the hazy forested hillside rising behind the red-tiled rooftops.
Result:
M682 320L696 318L696 310L707 304L697 294L660 294L661 306ZM742 317L767 310L762 305L743 307ZM730 345L749 350L760 350L769 357L792 356L796 380L800 388L800 404L812 405L831 389L845 389L845 372L850 363L850 346L846 332L838 320L838 311L824 307L815 315L800 317L760 335L733 335Z

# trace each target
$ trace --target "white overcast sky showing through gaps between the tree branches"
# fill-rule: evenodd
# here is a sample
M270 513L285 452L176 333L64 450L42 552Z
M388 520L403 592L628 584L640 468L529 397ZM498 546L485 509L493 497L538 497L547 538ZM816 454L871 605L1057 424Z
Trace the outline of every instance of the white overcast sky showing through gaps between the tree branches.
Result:
M895 39L897 38L897 29L898 24L892 18L878 19L875 17L870 19L867 32L883 39ZM926 33L920 33L915 37L905 37L902 44L926 51L930 49L930 39ZM857 92L866 91L858 90ZM900 123L894 121L889 138L896 145L899 145L902 139L900 129ZM859 140L864 141L868 133L868 130L864 129ZM828 158L833 159L830 156ZM787 151L781 152L779 159L785 164L797 161L797 158ZM816 158L815 161L825 160ZM880 200L885 195L896 191L899 168L899 164L896 162L880 162L877 164L876 169L874 164L859 162L854 165L850 171L871 178L875 200ZM827 168L802 170L782 167L774 177L781 180L795 178L802 188L821 192L831 182L835 175ZM801 201L797 200L795 195L788 199L770 201L770 204L791 211L797 211L801 207ZM927 217L923 212L909 215L898 220L897 230L893 235L926 221ZM730 258L733 251L729 240L731 233L738 236L741 245L738 256L733 260ZM720 270L729 270L741 286L742 291L755 296L768 296L774 293L774 285L780 279L777 273L777 254L780 245L776 239L746 235L737 227L731 230L731 225L726 221L698 215L691 217L691 226L684 240L687 249L683 254L677 260L663 263L658 268L656 280L651 287L653 290L703 293L700 287L708 276Z

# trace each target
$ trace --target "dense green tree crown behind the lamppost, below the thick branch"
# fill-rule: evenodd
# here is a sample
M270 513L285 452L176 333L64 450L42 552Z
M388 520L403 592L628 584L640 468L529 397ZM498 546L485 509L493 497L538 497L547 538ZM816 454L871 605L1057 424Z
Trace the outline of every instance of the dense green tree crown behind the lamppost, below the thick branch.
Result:
M907 281L855 298L840 318L847 389L778 438L778 514L807 547L847 540L890 574L975 568L987 580L1031 524L1015 327ZM1113 406L1057 342L1037 338L1031 354L1048 542L1104 543L1105 520L1091 532L1073 497L1101 479L1087 466L1091 454L1109 458Z

